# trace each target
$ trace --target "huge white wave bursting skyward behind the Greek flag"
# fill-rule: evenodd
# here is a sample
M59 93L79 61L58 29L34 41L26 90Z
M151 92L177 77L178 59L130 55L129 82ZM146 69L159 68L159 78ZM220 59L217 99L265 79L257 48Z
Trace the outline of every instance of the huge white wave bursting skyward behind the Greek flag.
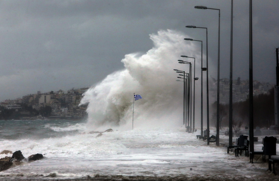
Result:
M183 82L176 81L179 73L173 69L189 72L189 65L178 63L177 60L182 59L180 55L195 57L196 77L201 75L200 43L185 41L185 37L188 36L174 30L160 30L157 34L151 34L151 50L145 54L125 55L122 59L123 70L108 75L89 88L81 101L81 104L89 103L89 127L109 125L131 129L134 93L143 97L135 101L135 129L182 126ZM183 60L192 62L194 69L193 58ZM196 106L200 105L200 87L199 79L196 82ZM200 118L198 115L196 117Z

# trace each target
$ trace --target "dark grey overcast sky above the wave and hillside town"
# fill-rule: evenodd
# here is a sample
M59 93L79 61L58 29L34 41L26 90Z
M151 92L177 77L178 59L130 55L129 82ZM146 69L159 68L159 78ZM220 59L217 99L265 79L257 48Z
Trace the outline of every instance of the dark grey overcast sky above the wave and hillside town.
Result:
M249 0L233 3L233 79L246 80ZM159 30L176 30L203 41L205 56L205 30L186 25L208 28L208 56L215 62L210 66L217 67L218 11L194 6L220 9L220 78L229 78L229 0L0 1L0 101L92 86L124 69L121 60L126 54L150 50L149 35ZM272 84L279 47L278 9L278 0L253 1L254 80ZM173 68L177 67L170 71Z

